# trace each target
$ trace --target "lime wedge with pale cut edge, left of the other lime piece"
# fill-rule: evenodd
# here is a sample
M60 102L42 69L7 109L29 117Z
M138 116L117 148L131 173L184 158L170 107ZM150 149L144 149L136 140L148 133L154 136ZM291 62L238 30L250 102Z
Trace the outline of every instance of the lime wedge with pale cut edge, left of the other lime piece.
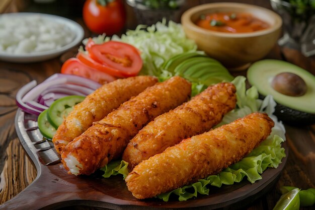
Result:
M300 208L299 191L295 188L282 195L273 210L298 210Z

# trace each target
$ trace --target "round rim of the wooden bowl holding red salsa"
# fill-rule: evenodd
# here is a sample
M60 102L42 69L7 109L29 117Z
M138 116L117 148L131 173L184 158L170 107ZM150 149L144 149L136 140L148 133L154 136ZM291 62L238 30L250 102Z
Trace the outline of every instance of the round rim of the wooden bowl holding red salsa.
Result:
M260 31L255 31L255 32L247 32L247 33L226 33L226 32L217 32L217 31L211 31L208 29L201 28L197 26L195 23L192 22L191 16L194 15L195 13L202 11L202 10L207 10L207 9L215 9L215 8L255 8L257 10L261 10L265 13L268 13L270 16L273 16L275 18L275 24L272 25L271 27L260 30ZM250 13L250 12L249 12ZM250 5L250 4L244 4L244 3L231 3L231 2L220 2L220 3L209 3L209 4L203 4L199 5L193 8L188 9L187 11L184 12L182 15L181 21L183 25L183 20L187 21L185 24L187 26L193 28L199 33L202 34L211 34L214 36L220 36L220 37L230 37L230 38L244 38L244 37L255 37L255 36L261 36L261 35L266 35L271 32L274 32L281 28L282 26L282 19L281 17L273 12L272 10L269 10L267 8L259 7L256 5Z

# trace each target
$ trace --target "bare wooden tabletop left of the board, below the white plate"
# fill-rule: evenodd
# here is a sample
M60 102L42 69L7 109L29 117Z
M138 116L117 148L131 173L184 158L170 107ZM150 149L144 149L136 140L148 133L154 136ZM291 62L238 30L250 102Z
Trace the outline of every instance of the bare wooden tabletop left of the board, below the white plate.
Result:
M30 65L0 62L0 66L0 203L3 203L32 183L37 174L15 132L16 93L31 80L41 82L54 74L60 62L58 59Z

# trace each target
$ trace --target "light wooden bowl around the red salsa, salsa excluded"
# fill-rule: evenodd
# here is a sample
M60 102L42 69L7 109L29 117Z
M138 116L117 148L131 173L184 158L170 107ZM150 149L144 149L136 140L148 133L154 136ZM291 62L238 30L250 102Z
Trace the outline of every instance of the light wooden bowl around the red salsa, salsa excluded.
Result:
M217 12L250 13L267 22L270 27L249 33L225 33L197 26L200 15ZM282 19L266 8L240 3L211 3L187 10L181 18L188 38L195 40L198 48L219 60L231 71L245 69L251 62L268 54L281 33Z

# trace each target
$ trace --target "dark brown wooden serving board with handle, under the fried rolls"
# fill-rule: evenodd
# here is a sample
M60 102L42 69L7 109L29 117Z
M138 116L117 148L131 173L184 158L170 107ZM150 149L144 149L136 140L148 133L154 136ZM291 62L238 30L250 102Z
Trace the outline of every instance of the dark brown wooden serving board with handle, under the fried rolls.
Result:
M121 176L103 178L101 172L91 176L67 174L60 157L51 142L43 139L37 129L37 117L25 114L20 109L16 114L16 130L20 142L34 162L37 178L20 194L0 206L0 209L56 209L70 205L87 205L109 209L216 209L240 208L248 205L265 194L276 183L288 157L277 169L269 168L262 179L251 184L246 179L241 183L223 185L221 188L210 186L209 195L187 201L173 199L169 202L152 198L138 200L127 190Z

